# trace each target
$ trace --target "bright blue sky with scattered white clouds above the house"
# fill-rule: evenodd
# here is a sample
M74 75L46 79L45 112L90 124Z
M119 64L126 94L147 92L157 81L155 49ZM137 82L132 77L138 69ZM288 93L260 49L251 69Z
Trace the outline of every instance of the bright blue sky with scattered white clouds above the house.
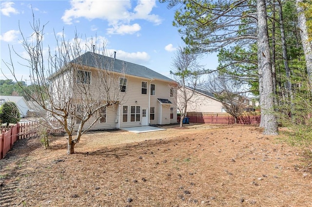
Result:
M116 51L116 58L136 63L170 77L172 58L183 41L172 26L174 9L158 0L13 0L0 1L0 79L12 79L3 64L10 60L9 49L22 57L25 51L20 44L22 33L32 35L32 9L35 19L46 24L44 29L44 50L56 45L55 34L64 30L65 39L71 40L75 31L82 39L97 37L98 42L106 41L108 54ZM19 80L27 80L29 69L17 63L14 55L16 74ZM21 60L19 60L21 61ZM206 69L215 69L217 57L204 55L200 63ZM3 73L3 74L2 74ZM26 81L27 83L27 81Z

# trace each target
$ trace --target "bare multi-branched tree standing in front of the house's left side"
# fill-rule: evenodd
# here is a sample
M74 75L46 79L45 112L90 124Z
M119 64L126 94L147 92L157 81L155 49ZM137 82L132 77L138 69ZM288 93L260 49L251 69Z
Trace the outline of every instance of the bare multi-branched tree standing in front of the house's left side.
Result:
M31 38L20 31L21 44L28 57L20 56L13 49L13 52L10 50L11 60L5 64L17 79L12 56L16 54L27 62L34 87L25 93L47 112L45 123L66 132L67 154L73 154L81 135L98 121L105 121L107 110L115 110L115 105L120 104L119 77L124 74L120 71L125 67L118 69L118 73L114 71L114 58L105 56L105 43L97 49L97 39L82 41L77 32L73 41L66 41L64 35L62 38L55 36L56 49L52 51L47 46L45 54L43 31L46 25L41 26L35 19L31 25Z

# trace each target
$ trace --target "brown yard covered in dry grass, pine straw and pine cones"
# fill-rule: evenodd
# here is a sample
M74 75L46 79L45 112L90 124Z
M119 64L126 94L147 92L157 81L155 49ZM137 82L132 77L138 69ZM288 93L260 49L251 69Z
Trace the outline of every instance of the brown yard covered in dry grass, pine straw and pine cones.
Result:
M20 140L0 160L0 206L312 206L312 164L282 135L241 125L167 128L89 133L74 155L62 137L48 150Z

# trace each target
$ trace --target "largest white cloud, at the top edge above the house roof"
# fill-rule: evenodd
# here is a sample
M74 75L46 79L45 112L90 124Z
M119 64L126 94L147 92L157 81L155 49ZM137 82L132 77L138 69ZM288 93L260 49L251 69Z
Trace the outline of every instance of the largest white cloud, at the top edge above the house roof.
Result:
M132 9L132 3L137 3ZM161 19L151 14L156 6L155 0L71 0L71 8L65 10L62 20L65 24L72 24L74 19L84 17L89 20L100 18L108 21L111 26L110 34L134 34L140 30L138 23L130 23L138 19L144 19L155 23L161 23Z

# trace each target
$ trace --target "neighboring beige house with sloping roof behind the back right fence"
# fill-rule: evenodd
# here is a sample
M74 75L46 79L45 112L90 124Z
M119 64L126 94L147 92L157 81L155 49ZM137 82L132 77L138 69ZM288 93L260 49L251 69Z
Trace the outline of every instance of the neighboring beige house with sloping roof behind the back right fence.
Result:
M192 92L192 88L186 87L188 93ZM178 91L179 93L180 91ZM178 95L179 97L179 95ZM247 102L244 100L245 103L241 103L247 111L250 111L252 106L249 105L249 99ZM220 100L215 98L214 93L195 89L195 93L191 100L188 102L187 112L201 112L201 113L226 113L225 108Z

